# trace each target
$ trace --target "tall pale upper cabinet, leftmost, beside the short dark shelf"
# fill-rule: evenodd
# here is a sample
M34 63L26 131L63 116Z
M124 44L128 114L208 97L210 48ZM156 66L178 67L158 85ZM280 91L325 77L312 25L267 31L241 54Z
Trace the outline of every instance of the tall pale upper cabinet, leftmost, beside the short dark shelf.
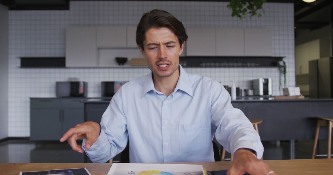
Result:
M96 27L66 29L66 67L96 66Z

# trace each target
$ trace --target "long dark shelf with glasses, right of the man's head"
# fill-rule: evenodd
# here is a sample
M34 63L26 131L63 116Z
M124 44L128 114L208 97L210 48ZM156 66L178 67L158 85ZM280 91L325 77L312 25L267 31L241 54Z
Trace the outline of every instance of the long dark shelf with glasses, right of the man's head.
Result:
M278 67L277 62L283 57L269 56L186 56L179 58L182 67L213 68L213 67Z

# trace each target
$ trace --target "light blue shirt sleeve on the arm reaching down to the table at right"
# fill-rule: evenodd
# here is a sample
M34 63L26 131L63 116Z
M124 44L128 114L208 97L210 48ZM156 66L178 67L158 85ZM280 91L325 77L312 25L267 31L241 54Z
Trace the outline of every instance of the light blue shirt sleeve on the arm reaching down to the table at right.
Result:
M258 159L262 157L264 148L259 134L244 113L232 107L229 93L220 84L212 86L211 123L216 128L217 142L226 151L233 155L239 148L249 148L256 152Z

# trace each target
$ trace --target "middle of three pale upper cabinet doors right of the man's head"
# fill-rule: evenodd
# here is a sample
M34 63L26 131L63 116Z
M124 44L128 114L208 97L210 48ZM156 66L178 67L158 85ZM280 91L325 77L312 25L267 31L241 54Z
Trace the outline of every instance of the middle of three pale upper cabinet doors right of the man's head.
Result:
M244 56L244 29L216 28L216 56Z

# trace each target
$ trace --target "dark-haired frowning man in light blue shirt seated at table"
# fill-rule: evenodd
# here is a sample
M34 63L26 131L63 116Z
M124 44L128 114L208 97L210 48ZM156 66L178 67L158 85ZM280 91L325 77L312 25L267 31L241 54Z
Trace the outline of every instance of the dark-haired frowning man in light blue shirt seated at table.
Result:
M218 82L179 65L187 35L166 11L145 13L136 41L150 74L123 85L103 114L101 127L85 122L61 138L94 162L106 162L130 142L130 162L214 161L212 139L233 154L228 174L274 174L259 159L263 146L242 111ZM204 43L202 43L204 44ZM83 140L83 146L76 140Z

